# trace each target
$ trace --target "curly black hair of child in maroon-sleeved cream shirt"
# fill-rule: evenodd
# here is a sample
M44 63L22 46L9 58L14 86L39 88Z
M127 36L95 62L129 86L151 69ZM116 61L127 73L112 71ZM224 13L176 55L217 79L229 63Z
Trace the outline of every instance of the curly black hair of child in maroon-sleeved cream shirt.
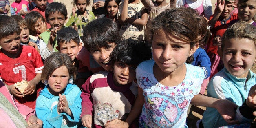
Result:
M110 61L138 66L144 60L152 59L150 46L145 40L139 42L121 40L110 55Z

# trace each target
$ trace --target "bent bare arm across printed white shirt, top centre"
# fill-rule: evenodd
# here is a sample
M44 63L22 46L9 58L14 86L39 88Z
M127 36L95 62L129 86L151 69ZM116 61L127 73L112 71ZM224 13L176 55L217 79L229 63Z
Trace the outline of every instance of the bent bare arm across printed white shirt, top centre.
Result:
M146 26L147 22L148 22L147 10L146 9L142 10L141 19L128 18L127 22L135 24L135 25Z

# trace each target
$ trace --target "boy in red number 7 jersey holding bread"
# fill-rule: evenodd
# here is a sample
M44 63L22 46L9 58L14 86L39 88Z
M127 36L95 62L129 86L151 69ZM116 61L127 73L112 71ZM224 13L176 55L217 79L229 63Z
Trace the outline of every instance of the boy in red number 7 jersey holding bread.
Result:
M20 26L7 15L0 15L0 46L0 80L19 103L34 109L44 64L33 47L20 45ZM23 93L14 86L22 80L28 82Z

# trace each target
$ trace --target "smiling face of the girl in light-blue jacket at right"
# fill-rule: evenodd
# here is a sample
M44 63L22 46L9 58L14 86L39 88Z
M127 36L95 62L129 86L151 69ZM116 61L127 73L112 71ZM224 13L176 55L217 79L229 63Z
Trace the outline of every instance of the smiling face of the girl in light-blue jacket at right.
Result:
M256 63L256 47L247 38L226 40L223 48L223 63L230 74L238 78L247 77L249 69Z

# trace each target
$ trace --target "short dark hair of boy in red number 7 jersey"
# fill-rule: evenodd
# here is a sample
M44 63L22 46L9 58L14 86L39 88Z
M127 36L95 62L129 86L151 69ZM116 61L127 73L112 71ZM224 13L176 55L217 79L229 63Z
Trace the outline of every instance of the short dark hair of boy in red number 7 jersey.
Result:
M0 15L0 39L13 34L20 35L20 26L8 15Z

